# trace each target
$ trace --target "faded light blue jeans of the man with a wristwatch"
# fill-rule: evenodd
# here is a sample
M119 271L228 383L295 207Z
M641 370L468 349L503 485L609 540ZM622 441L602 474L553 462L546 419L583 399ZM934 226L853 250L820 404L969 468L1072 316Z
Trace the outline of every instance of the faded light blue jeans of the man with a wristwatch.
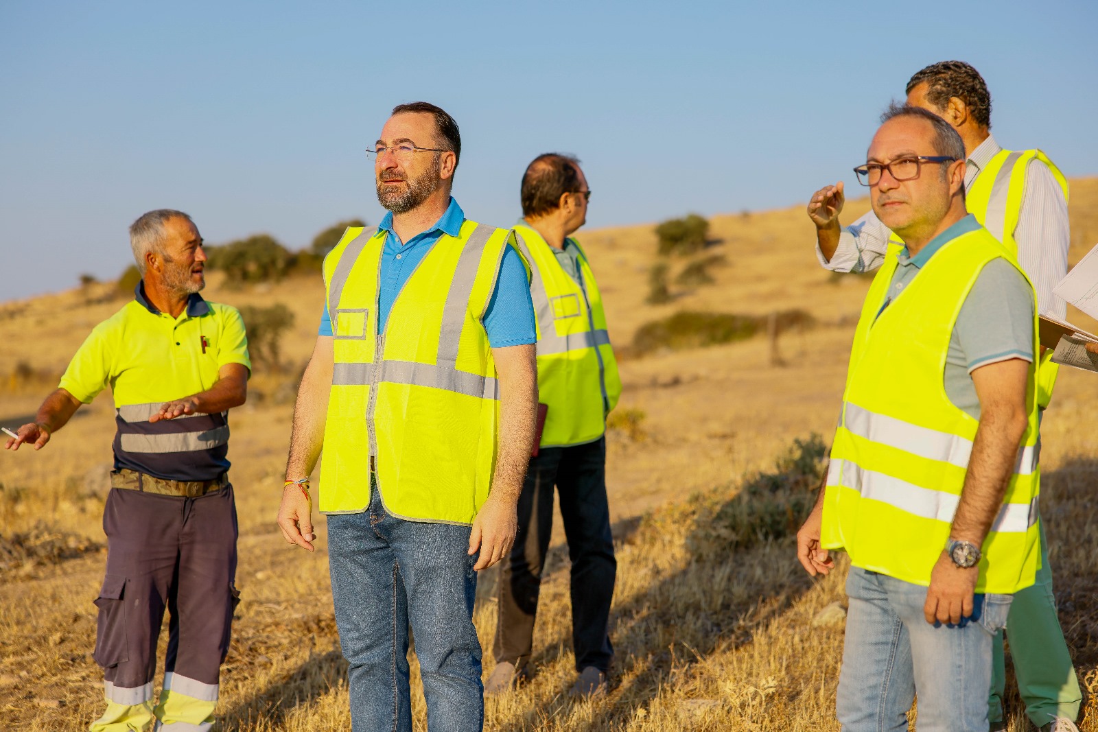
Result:
M971 618L931 626L927 588L850 568L850 610L836 711L844 732L906 732L919 695L919 732L987 732L991 639L1011 595L976 595Z

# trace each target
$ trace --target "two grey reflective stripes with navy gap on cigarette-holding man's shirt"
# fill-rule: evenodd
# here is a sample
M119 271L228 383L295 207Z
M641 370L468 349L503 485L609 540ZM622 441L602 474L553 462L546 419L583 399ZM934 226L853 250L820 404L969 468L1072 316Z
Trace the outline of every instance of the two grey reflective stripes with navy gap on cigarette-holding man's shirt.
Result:
M119 444L126 452L194 452L228 442L227 412L182 415L150 423L164 402L124 404L115 412Z

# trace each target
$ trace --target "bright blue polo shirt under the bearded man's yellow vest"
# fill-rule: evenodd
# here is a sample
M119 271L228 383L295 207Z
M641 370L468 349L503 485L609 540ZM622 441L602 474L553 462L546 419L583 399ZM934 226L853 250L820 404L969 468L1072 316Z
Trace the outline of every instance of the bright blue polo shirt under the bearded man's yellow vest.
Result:
M388 213L378 226L386 232L385 246L381 251L380 291L378 293L378 328L383 330L389 311L396 302L396 295L407 279L412 277L416 266L427 256L444 234L458 236L466 214L452 198L446 213L435 222L435 225L422 234L402 243L393 230L393 214ZM526 275L523 260L512 247L504 250L500 262L500 274L495 281L492 300L484 313L484 329L488 331L492 348L506 346L524 346L537 342L537 326L535 325L534 302L530 300L530 281ZM324 315L321 317L318 334L330 336L332 316L327 303L324 304Z

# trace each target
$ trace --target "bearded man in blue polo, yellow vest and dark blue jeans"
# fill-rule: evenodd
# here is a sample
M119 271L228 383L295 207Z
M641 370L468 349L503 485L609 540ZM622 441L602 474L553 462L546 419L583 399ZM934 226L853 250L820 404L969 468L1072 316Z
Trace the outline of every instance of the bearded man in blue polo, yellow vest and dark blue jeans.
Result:
M537 328L514 235L450 198L458 125L401 104L369 156L389 214L324 261L325 314L294 407L279 527L313 550L321 450L351 727L412 729L408 626L428 728L480 730L477 572L507 555L534 442Z

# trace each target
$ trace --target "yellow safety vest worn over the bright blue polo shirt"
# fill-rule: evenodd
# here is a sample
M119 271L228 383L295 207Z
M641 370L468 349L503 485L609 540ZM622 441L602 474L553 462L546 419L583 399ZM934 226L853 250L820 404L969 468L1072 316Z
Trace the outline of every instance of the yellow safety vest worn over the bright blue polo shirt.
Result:
M379 334L384 240L350 227L324 261L335 367L320 509L365 510L373 458L390 514L471 523L498 450L500 385L482 318L513 237L471 221L442 235Z

